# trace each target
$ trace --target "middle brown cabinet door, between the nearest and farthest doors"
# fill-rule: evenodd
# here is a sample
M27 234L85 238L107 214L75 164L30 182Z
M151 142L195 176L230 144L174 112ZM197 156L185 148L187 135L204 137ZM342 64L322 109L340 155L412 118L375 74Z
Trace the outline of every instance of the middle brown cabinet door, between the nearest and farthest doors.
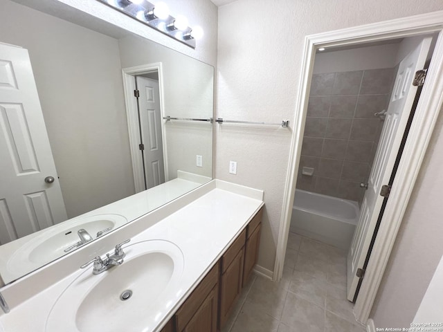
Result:
M221 275L220 284L220 326L228 320L240 293L242 292L244 249L241 248L230 266Z

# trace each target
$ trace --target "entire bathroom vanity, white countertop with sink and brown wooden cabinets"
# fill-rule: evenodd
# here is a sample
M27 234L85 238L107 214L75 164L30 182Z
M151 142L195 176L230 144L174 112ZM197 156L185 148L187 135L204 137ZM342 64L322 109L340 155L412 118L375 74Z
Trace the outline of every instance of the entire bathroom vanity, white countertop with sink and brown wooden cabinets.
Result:
M255 266L263 205L210 181L2 288L0 331L217 331ZM127 239L123 264L80 268Z

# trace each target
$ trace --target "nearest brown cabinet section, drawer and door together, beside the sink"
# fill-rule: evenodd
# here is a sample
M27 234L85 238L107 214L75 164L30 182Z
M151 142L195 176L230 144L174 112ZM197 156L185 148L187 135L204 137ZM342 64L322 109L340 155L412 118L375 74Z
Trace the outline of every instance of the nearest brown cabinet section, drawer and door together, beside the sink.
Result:
M177 332L217 331L218 278L217 263L175 314Z

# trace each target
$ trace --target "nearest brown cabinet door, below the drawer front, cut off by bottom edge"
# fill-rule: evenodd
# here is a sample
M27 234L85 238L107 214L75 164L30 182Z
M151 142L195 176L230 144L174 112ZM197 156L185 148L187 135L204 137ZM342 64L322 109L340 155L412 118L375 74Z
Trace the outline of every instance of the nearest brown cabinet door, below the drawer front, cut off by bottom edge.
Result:
M216 332L218 288L215 286L192 316L183 332Z

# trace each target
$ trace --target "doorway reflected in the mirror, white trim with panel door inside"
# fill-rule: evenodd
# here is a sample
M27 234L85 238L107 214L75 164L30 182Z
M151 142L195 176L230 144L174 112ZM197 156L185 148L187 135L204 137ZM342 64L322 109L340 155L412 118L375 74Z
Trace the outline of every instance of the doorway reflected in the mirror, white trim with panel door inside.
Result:
M123 68L123 88L136 192L168 181L161 62Z

